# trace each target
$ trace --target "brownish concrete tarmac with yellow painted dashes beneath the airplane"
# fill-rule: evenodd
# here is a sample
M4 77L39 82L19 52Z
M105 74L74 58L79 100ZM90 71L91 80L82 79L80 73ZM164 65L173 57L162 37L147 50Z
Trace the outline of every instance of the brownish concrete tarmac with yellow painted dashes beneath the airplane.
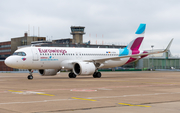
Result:
M0 113L180 113L180 72L0 73Z

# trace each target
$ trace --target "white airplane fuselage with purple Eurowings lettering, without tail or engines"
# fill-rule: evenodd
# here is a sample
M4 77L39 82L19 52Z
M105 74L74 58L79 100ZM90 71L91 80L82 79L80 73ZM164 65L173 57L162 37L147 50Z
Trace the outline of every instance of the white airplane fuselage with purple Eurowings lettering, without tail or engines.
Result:
M118 57L123 55L123 51L108 48L26 47L15 51L24 52L25 56L12 55L5 62L9 67L17 69L72 69L73 62ZM121 66L128 60L107 60L99 68Z

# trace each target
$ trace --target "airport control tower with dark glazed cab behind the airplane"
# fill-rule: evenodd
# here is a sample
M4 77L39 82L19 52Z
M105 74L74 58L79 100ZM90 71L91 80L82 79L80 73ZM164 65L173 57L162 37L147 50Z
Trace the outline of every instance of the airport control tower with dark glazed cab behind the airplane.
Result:
M71 26L71 35L73 35L72 43L83 43L84 28L82 26Z

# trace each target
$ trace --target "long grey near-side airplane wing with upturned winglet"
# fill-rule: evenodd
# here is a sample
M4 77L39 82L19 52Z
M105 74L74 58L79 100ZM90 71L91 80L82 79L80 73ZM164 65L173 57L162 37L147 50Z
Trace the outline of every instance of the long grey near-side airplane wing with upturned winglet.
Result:
M103 58L103 59L89 59L89 60L84 60L85 62L99 62L99 63L103 63L107 60L120 60L121 58L128 58L128 57L140 57L140 56L146 56L146 55L150 55L150 54L158 54L158 53L164 53L167 52L171 46L173 39L171 39L171 41L169 42L168 46L166 47L166 49L161 50L161 51L154 51L154 52L148 52L148 53L141 53L141 54L135 54L135 55L126 55L126 56L119 56L119 57L111 57L111 58Z

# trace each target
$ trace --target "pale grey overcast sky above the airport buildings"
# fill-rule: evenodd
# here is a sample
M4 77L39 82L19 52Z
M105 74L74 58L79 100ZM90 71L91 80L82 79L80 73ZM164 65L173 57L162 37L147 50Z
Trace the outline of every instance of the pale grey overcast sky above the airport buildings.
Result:
M128 44L140 23L146 23L141 49L163 49L174 38L170 50L180 56L180 0L0 0L1 42L28 28L38 36L38 27L48 40L72 38L70 27L84 26L84 42Z

